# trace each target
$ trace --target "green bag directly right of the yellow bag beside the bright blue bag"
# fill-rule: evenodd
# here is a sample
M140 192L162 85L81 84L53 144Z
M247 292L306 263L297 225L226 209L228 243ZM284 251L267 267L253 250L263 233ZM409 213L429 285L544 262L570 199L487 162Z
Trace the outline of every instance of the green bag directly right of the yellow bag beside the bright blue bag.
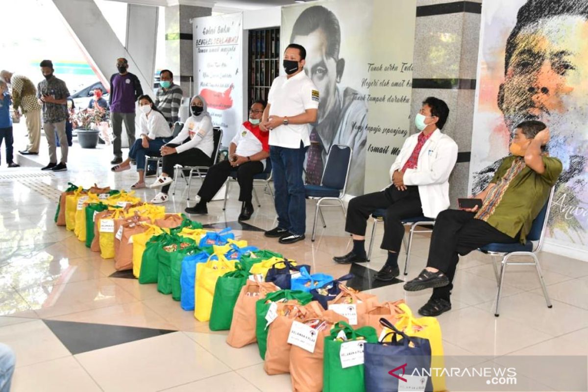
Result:
M249 272L243 270L239 263L234 271L227 272L216 281L215 295L212 299L211 319L208 327L211 331L225 331L230 329L233 321L233 309L249 277Z

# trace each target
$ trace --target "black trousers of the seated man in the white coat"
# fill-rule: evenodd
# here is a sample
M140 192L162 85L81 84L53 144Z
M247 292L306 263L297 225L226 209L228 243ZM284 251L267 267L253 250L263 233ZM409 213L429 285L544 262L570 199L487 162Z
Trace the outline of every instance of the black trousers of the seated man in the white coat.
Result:
M389 186L381 192L353 197L347 209L345 231L365 236L368 226L366 220L377 209L386 209L380 248L399 252L405 233L401 220L423 215L419 187L409 186L406 190L397 190L395 186Z

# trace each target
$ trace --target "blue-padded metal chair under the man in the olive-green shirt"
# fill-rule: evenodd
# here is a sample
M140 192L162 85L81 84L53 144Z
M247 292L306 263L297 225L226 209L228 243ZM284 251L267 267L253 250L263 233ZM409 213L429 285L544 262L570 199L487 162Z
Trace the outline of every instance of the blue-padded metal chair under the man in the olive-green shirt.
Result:
M492 256L492 266L494 267L494 274L496 275L496 282L498 284L498 292L496 293L496 306L494 309L494 315L496 317L500 316L498 311L500 305L500 294L502 293L502 284L505 281L506 266L509 264L519 266L535 266L535 269L537 270L537 276L539 276L539 282L541 283L541 288L543 289L543 296L545 297L547 307L552 307L549 294L547 293L547 288L545 287L545 281L543 280L543 272L541 270L541 266L539 265L537 253L540 252L543 246L545 229L547 227L547 217L549 217L553 193L554 188L552 188L545 205L539 212L539 215L537 215L537 217L533 220L531 231L529 234L527 234L527 241L524 245L520 242L510 244L491 243L478 249L480 252L490 254L490 256ZM502 262L500 262L500 273L498 272L498 267L496 266L496 256L502 256ZM528 256L533 261L528 263L511 262L509 259L512 256Z

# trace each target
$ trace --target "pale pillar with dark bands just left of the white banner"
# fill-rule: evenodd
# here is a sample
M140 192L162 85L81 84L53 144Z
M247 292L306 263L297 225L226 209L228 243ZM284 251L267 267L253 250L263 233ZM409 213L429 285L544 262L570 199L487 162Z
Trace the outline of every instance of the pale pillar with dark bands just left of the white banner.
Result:
M173 72L173 82L180 85L184 96L191 91L193 80L192 18L211 16L211 8L192 5L173 5L165 8L166 68ZM192 86L193 95L193 86Z

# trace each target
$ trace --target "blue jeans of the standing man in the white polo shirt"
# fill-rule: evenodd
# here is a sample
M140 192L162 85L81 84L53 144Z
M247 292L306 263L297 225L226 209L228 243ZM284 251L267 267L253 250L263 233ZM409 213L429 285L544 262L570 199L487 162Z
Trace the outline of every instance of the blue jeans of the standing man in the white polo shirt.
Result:
M306 232L306 192L302 181L302 167L308 147L270 146L273 186L275 187L278 227L301 236Z

